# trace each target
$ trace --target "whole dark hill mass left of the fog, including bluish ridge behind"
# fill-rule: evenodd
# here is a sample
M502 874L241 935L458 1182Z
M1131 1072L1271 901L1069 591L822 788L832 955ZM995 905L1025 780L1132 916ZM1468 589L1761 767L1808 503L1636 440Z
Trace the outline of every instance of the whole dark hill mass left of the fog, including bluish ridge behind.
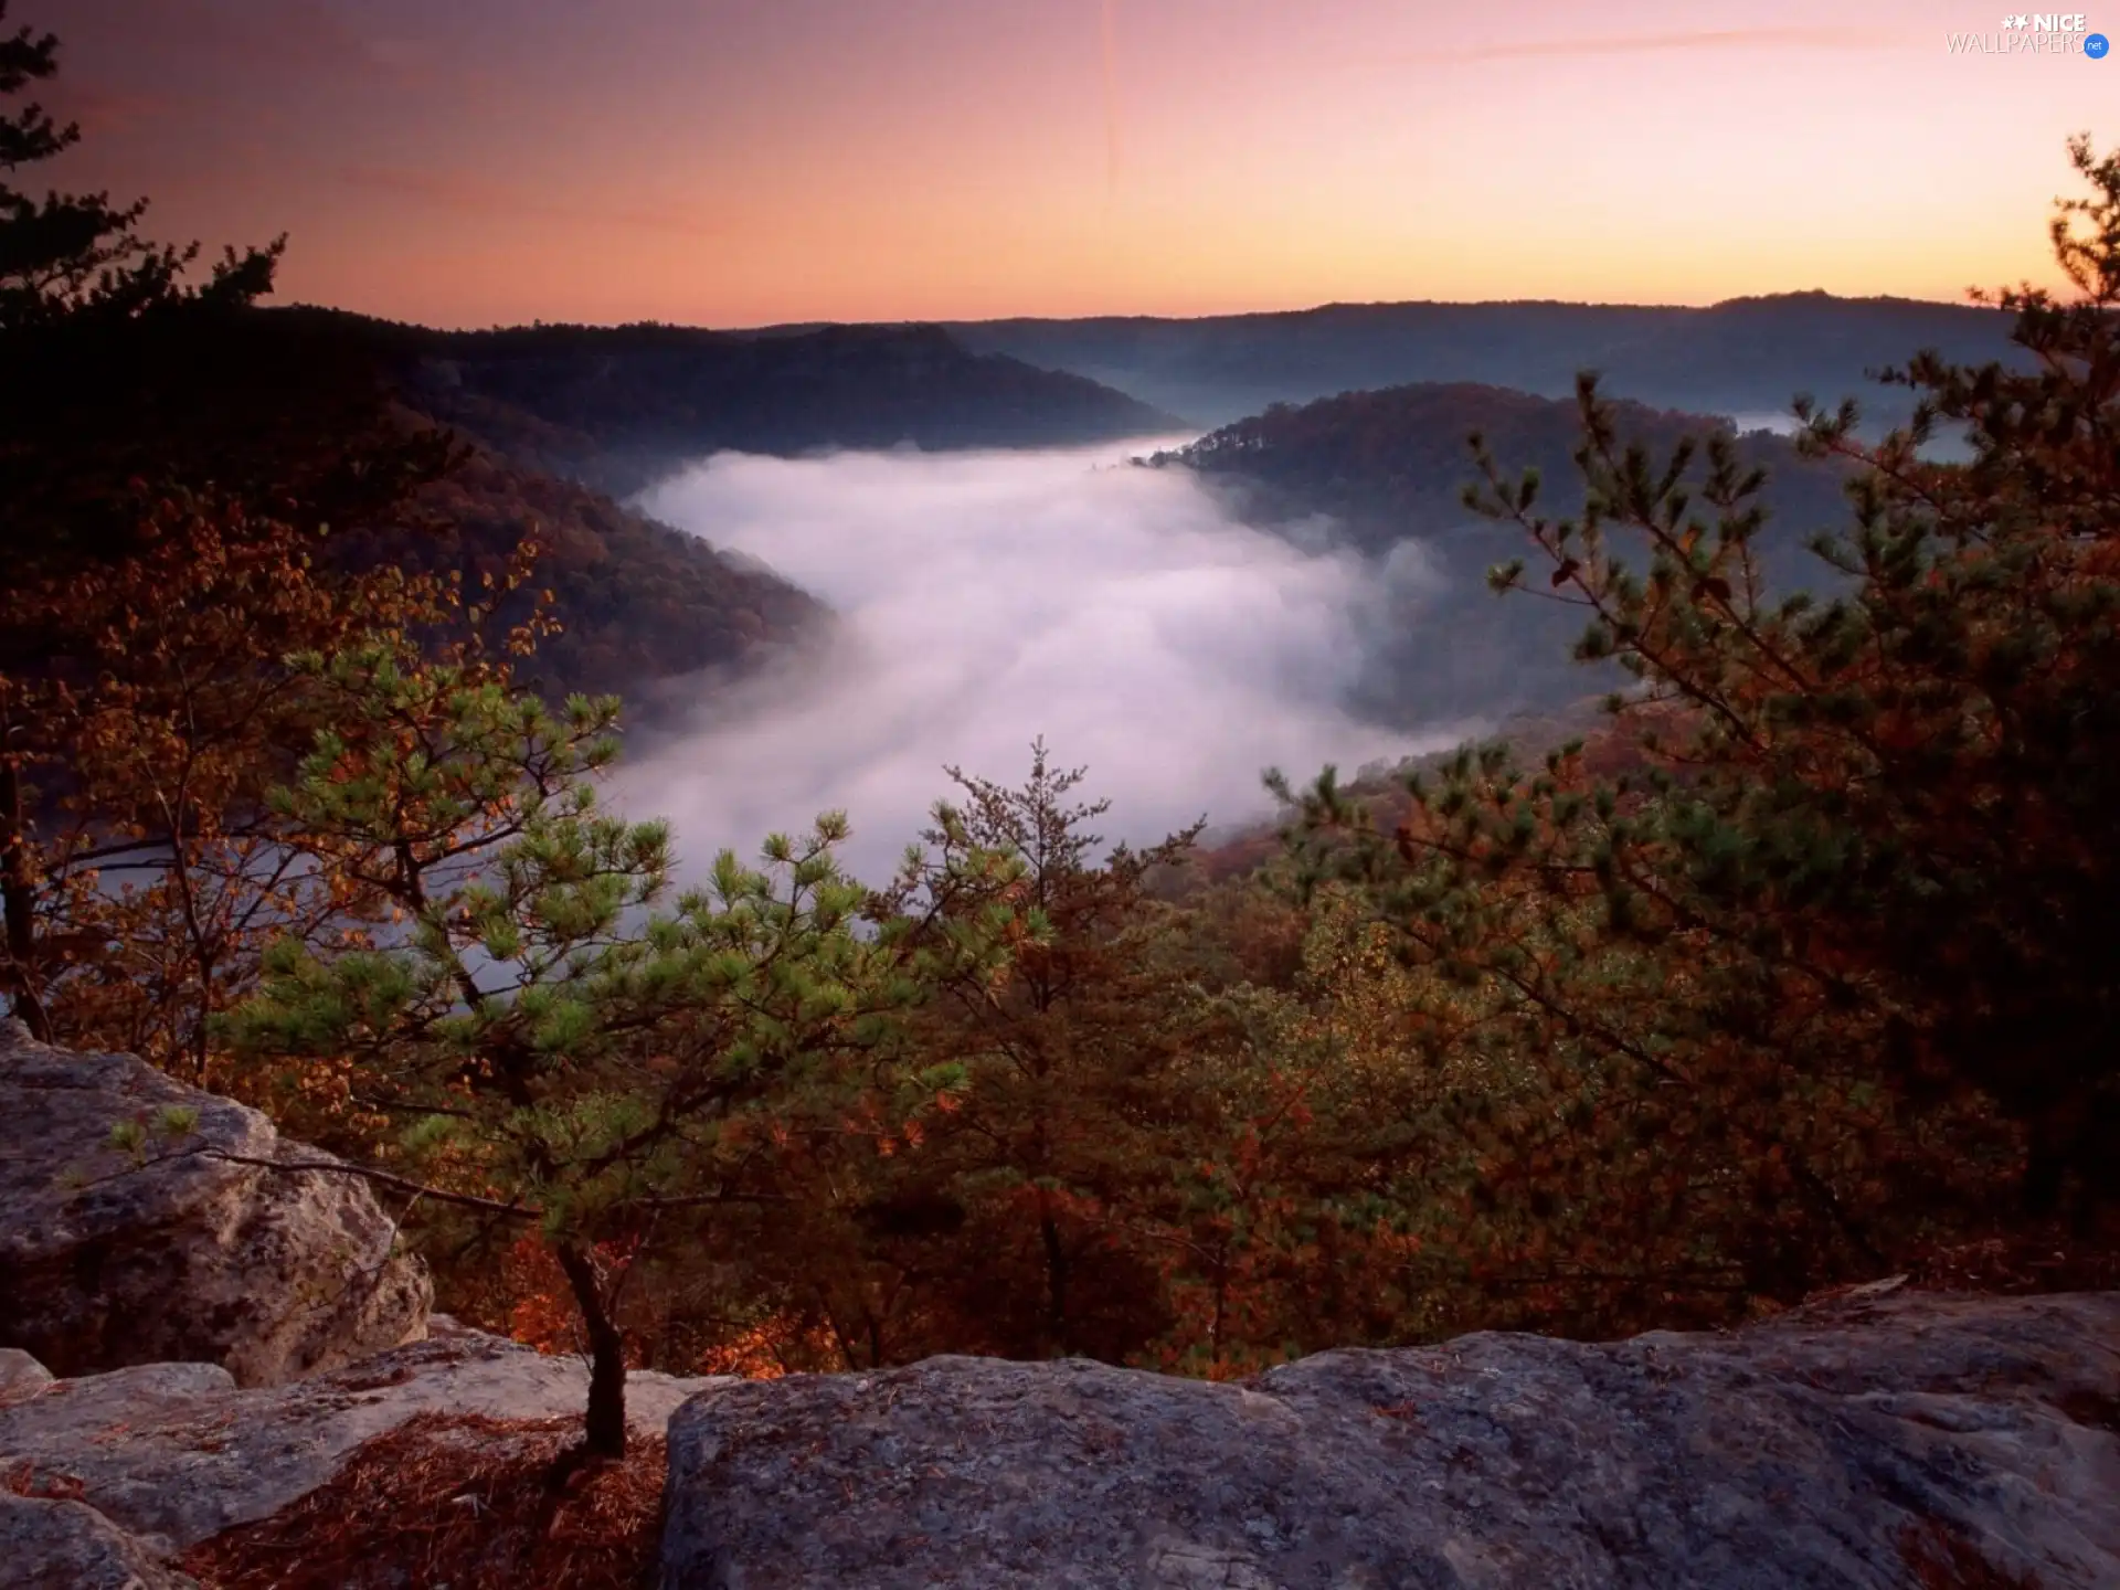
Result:
M825 608L710 541L621 505L723 447L1045 445L1177 422L1077 375L971 354L933 326L757 339L672 326L443 333L331 310L187 316L32 346L0 382L0 500L15 568L100 555L136 519L136 483L233 492L273 511L331 502L331 555L502 566L526 534L564 632L551 691L636 706L702 670L742 670ZM469 462L413 513L375 473L405 432L447 428ZM435 524L443 528L435 528Z

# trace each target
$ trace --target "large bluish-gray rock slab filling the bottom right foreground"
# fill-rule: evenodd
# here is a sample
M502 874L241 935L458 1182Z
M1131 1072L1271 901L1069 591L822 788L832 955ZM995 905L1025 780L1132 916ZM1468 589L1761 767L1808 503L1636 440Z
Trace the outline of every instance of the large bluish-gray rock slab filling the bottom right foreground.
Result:
M661 1582L1902 1590L1910 1531L1944 1531L2044 1590L2120 1586L2116 1431L2120 1295L1872 1293L1244 1384L931 1359L681 1408Z

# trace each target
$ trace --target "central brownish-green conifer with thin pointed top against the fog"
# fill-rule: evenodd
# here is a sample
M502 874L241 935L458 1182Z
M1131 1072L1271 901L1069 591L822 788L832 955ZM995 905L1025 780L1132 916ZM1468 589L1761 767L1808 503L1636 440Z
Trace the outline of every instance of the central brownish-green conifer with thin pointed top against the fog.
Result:
M1130 1227L1162 1181L1153 1124L1189 1013L1160 965L1170 912L1147 884L1198 827L1107 852L1092 825L1109 803L1077 799L1085 770L1056 767L1043 742L1020 787L946 772L956 793L907 859L897 909L965 926L1005 903L1013 952L918 1018L935 1088L880 1136L890 1153L869 1166L852 1244L880 1280L852 1310L867 1319L886 1295L924 1308L943 1336L901 1350L1124 1357L1162 1323ZM1007 867L967 886L996 856Z

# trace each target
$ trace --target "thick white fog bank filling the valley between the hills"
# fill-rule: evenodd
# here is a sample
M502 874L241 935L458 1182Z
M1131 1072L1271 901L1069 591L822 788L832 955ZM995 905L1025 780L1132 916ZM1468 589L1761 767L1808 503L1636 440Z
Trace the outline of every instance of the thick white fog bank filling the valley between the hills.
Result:
M1132 452L1147 452L1134 443ZM1107 840L1266 814L1261 770L1308 778L1452 744L1342 702L1357 636L1423 579L1236 524L1181 471L1115 447L1009 454L719 454L642 498L831 604L823 655L704 700L619 776L687 871L829 808L882 880L950 793L946 765L1020 782L1032 736L1111 797Z

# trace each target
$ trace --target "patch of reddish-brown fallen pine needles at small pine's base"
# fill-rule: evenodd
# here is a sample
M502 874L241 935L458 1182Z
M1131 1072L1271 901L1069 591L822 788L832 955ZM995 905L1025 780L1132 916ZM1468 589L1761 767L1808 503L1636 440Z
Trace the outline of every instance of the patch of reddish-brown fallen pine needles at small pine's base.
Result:
M664 1442L547 1484L572 1418L422 1414L339 1476L184 1556L208 1590L634 1590L661 1524Z

